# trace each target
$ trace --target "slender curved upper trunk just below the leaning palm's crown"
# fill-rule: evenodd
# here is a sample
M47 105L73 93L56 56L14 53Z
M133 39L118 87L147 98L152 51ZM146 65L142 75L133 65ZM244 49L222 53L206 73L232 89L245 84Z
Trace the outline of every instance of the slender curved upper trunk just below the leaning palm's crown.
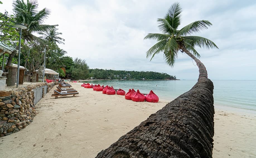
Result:
M197 59L192 53L190 53L186 48L184 48L183 46L181 46L180 49L181 49L183 52L185 52L187 55L189 55L192 59L195 60L196 65L197 65L198 68L199 68L199 77L198 77L198 81L199 81L200 79L203 79L203 78L208 78L207 70L206 70L204 64L203 64L199 59Z

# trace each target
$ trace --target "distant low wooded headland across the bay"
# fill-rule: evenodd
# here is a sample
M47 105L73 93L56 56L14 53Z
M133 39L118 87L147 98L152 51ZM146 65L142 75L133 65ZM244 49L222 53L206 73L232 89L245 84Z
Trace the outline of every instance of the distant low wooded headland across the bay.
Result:
M92 79L177 80L176 76L153 71L89 69Z

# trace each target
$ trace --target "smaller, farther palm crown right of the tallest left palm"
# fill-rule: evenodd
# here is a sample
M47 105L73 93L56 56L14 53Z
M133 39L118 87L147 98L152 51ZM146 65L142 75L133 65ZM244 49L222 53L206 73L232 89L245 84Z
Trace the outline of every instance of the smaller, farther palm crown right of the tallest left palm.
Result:
M42 35L39 38L42 38L44 40L47 40L50 43L59 43L59 44L65 44L62 41L65 41L65 39L59 37L59 35L62 35L62 33L57 32L57 28L52 28L48 31L43 32L38 32L39 35Z

